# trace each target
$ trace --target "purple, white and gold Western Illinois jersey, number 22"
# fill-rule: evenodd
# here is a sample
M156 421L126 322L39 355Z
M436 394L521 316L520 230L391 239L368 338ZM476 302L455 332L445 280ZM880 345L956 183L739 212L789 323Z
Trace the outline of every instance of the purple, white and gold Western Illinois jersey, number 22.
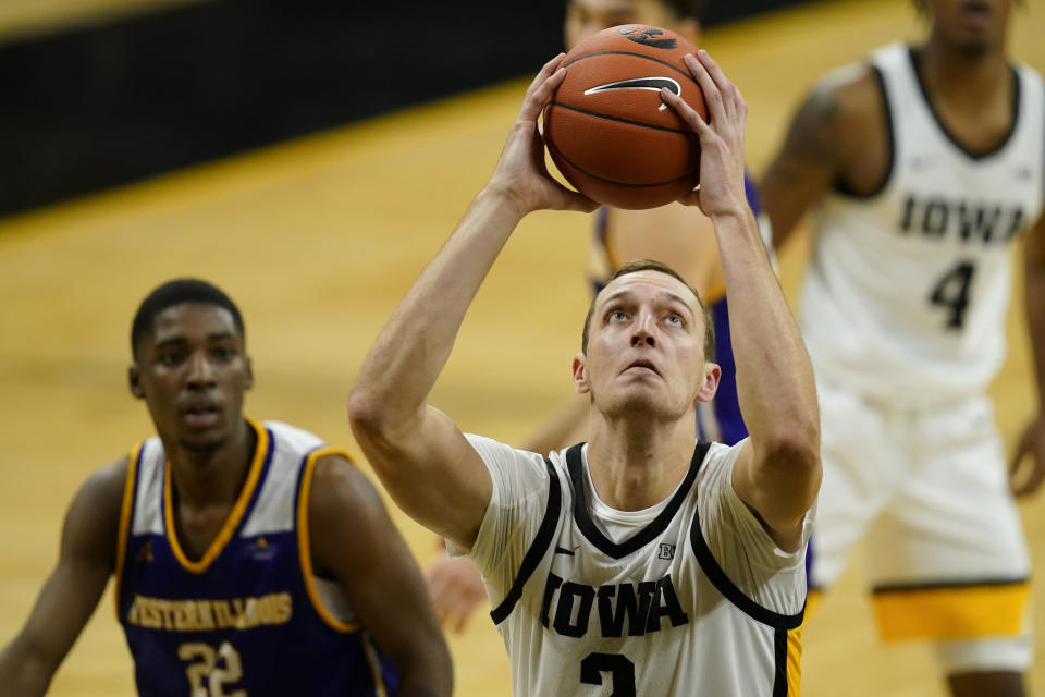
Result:
M204 557L173 523L159 438L131 455L116 555L116 614L146 697L393 695L389 658L340 586L312 572L308 494L319 457L346 453L285 424L250 421L246 482Z

